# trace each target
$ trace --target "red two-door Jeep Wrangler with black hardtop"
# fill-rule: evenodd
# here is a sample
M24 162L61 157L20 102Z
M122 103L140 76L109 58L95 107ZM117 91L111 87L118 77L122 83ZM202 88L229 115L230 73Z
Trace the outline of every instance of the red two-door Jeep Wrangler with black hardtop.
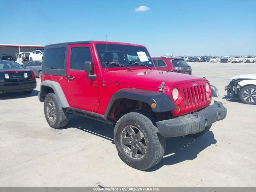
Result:
M212 89L204 78L158 71L146 47L82 41L44 48L38 94L52 128L69 114L114 125L120 158L146 170L158 164L165 138L198 137L226 117L221 102L210 106Z

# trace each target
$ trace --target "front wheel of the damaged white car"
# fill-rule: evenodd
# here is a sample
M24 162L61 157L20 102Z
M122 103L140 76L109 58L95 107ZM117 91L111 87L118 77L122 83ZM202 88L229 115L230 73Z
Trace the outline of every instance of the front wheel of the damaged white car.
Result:
M245 86L239 92L239 99L250 105L256 105L256 86Z

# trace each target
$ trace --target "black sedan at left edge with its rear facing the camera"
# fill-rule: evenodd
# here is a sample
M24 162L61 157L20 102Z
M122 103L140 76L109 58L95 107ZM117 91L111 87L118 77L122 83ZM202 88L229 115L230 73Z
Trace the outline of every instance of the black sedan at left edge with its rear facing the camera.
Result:
M0 93L23 91L32 93L36 77L32 70L14 61L0 61Z

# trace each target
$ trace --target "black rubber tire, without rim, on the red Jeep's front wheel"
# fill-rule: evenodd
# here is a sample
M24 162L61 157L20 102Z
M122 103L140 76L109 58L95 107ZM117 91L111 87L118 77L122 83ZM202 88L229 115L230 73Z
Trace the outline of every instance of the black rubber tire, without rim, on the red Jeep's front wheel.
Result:
M129 125L136 127L144 135L146 152L141 158L132 158L124 150L122 132ZM166 148L165 139L157 133L154 120L142 112L130 112L120 117L114 128L114 140L118 155L122 161L138 170L146 170L158 164Z

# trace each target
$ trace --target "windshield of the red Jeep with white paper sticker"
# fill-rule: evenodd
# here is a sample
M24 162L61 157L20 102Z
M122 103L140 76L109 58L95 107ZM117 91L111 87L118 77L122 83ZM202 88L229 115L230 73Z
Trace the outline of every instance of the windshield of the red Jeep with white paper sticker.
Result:
M136 62L153 67L148 51L144 47L121 44L96 44L96 49L102 68L120 67L110 64L123 64L128 67L138 67Z

